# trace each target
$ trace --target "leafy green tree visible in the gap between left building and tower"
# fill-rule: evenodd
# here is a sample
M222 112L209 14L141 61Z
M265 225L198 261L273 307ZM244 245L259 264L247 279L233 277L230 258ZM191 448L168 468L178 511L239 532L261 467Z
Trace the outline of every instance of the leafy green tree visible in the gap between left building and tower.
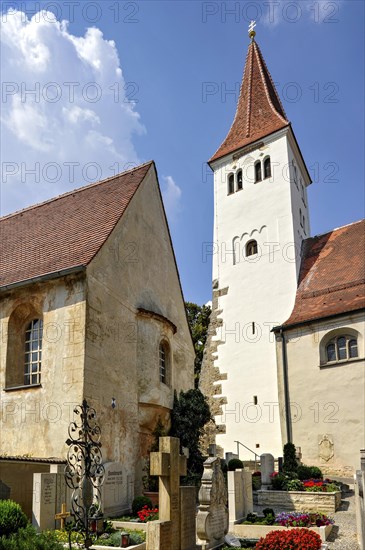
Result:
M198 306L193 302L185 303L188 322L195 348L195 387L198 387L200 370L203 361L203 352L208 335L209 317L212 312L209 306Z

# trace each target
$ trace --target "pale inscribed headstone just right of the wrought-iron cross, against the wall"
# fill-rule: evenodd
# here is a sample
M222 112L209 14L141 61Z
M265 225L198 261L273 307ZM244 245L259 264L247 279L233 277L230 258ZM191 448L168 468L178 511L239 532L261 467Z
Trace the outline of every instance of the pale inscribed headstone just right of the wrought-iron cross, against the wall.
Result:
M104 464L104 483L100 488L105 517L127 513L131 507L131 480L121 462Z

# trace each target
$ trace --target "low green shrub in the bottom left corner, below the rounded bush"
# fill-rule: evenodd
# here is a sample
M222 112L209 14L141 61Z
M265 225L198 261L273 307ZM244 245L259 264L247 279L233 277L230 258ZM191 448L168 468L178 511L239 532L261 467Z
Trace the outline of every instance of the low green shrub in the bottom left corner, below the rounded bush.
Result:
M34 527L28 525L17 533L0 538L0 550L64 550L57 542L52 531L37 533Z

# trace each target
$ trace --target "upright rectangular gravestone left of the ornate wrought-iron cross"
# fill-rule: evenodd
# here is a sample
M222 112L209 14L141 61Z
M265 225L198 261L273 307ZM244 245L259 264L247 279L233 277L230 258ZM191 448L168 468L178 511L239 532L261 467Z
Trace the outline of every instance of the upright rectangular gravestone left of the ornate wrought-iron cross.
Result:
M32 523L37 531L55 528L57 475L33 474Z

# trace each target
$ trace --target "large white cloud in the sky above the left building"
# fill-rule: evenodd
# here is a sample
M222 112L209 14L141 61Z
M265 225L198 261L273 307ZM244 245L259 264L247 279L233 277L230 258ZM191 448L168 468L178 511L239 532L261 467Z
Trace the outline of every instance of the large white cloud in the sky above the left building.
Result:
M50 12L9 10L1 27L1 214L140 162L145 129L112 40L74 36Z

